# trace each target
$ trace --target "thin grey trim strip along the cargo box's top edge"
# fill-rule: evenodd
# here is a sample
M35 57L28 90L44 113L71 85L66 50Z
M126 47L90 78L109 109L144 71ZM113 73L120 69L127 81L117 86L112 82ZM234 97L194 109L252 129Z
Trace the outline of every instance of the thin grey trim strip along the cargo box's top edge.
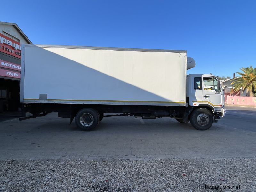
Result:
M187 53L186 50L169 50L169 49L140 49L140 48L119 48L119 47L88 47L88 46L41 45L41 44L26 44L25 46L26 47L41 47L41 48L97 49L97 50L116 50L116 51L145 51L145 52Z

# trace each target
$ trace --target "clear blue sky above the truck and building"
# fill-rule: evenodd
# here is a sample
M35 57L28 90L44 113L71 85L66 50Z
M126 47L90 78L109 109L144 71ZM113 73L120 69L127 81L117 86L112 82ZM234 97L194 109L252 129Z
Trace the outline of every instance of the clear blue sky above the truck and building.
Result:
M187 50L189 73L256 67L256 1L8 1L0 21L34 44Z

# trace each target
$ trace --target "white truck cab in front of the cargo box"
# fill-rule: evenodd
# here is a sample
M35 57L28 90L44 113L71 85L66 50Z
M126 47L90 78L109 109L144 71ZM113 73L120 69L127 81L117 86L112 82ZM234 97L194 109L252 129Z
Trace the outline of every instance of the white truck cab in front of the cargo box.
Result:
M214 114L214 122L225 116L224 91L217 76L212 74L187 75L186 96L189 106L211 110ZM200 122L200 118L197 120Z

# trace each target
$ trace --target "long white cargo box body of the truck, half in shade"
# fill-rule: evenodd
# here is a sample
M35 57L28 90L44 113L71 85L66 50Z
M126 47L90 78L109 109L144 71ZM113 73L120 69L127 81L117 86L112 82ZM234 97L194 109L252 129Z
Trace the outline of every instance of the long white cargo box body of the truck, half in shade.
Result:
M22 46L22 103L186 106L186 51Z

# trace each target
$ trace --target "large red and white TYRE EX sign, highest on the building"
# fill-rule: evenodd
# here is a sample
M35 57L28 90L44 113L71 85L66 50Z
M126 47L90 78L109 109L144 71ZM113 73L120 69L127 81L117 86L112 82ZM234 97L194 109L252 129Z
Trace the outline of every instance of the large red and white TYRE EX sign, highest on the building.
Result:
M0 33L0 51L21 58L20 43Z

